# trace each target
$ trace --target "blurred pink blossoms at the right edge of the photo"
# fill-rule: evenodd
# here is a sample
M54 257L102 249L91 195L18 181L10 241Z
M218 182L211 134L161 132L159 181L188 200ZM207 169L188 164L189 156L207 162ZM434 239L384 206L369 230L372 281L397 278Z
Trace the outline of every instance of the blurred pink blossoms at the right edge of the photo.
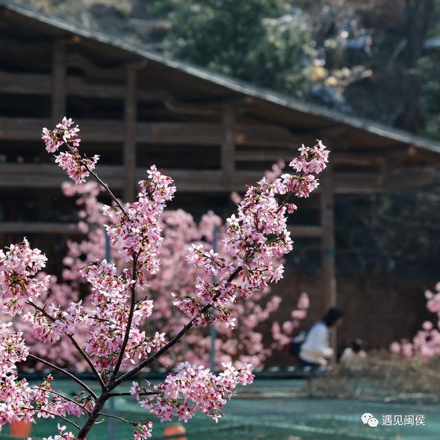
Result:
M432 322L423 322L412 341L401 340L391 344L391 352L403 355L407 359L418 359L427 362L440 355L440 283L435 285L435 292L425 292L426 308L437 314L437 326Z

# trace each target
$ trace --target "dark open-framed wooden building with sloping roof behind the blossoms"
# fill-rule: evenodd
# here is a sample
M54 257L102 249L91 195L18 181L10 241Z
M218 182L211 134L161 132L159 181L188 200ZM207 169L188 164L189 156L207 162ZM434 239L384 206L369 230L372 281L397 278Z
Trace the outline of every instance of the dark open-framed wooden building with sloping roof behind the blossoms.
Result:
M226 212L232 190L322 139L331 166L305 202L314 223L291 230L322 243L326 305L336 303L333 195L422 184L440 164L440 144L431 140L0 3L1 245L27 235L52 243L53 254L76 233L75 219L63 214L65 173L40 139L41 127L64 115L80 124L83 148L101 155L100 175L125 201L155 163L176 181L174 206L195 212Z

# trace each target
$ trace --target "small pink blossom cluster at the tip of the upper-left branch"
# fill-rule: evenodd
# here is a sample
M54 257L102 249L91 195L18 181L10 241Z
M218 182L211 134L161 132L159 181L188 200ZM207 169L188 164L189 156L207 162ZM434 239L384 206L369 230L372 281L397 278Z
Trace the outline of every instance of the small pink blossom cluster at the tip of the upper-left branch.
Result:
M63 118L54 130L44 128L41 138L45 142L47 153L58 152L55 155L56 164L63 168L76 184L80 184L89 176L89 172L94 170L99 156L81 155L78 149L81 141L78 137L80 129L78 125L73 125L72 119ZM62 146L66 151L59 151Z

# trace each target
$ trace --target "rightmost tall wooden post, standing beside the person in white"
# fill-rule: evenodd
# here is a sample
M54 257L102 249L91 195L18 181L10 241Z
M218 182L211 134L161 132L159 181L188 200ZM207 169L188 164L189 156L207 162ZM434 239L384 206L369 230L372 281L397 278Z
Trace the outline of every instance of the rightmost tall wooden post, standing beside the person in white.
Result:
M322 293L324 294L325 311L329 307L335 307L336 297L336 246L334 231L334 191L333 170L331 162L320 176L320 210L321 210L321 256L322 256ZM324 311L324 313L325 313ZM330 346L335 351L336 360L336 329L330 332Z

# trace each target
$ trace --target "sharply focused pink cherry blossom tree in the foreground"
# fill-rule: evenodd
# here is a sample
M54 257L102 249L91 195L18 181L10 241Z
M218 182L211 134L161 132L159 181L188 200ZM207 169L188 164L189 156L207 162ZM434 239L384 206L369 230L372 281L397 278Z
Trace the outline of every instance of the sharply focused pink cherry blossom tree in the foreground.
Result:
M119 269L105 259L86 263L79 273L90 285L91 306L85 307L78 301L62 308L41 303L40 298L50 285L50 276L41 273L47 259L40 250L32 249L23 239L0 251L3 313L20 316L30 323L34 337L45 344L67 338L100 385L100 392L95 393L76 375L30 353L21 331L12 331L8 324L0 325L0 424L19 420L34 422L35 417L59 417L76 429L76 433L65 432L65 427L59 426L58 434L48 438L51 440L85 439L96 419L105 416L102 408L106 401L116 395L126 395L118 391L118 387L173 349L192 327L222 322L234 328L236 318L231 304L236 296L249 300L268 283L282 278L283 265L277 261L292 250L292 239L286 228L286 214L295 209L290 199L293 195L307 197L318 186L315 175L325 168L328 160L328 151L320 142L314 147L303 146L300 157L290 164L296 174L285 173L272 183L263 178L247 188L237 214L228 219L223 241L234 262L212 249L206 251L200 243L190 245L186 261L215 277L215 281L196 278L192 289L185 294L170 292L174 305L188 318L177 333L168 336L154 329L144 331L141 325L153 313L145 274L159 270L159 253L164 241L160 218L166 202L173 198L174 182L153 165L147 170L146 179L139 182L136 200L121 203L95 172L99 157L87 157L80 152L79 129L73 124L64 118L56 129L43 129L46 149L55 154L56 163L76 184L91 175L105 188L112 204L104 206L102 211L113 219L107 225L107 234L126 266ZM33 311L25 312L25 305ZM76 340L79 328L87 329L89 335L84 346ZM25 378L19 380L17 363L27 359L42 362L66 375L83 391L73 399L64 396L52 388L50 375L39 386L30 386ZM243 364L239 369L230 363L223 364L223 371L214 375L203 366L181 362L177 372L168 373L160 384L133 382L129 395L161 421L172 417L187 421L197 411L217 421L234 388L238 384L250 384L252 380L250 364ZM86 416L82 426L67 417L81 415ZM151 437L151 422L126 422L133 425L135 439Z

